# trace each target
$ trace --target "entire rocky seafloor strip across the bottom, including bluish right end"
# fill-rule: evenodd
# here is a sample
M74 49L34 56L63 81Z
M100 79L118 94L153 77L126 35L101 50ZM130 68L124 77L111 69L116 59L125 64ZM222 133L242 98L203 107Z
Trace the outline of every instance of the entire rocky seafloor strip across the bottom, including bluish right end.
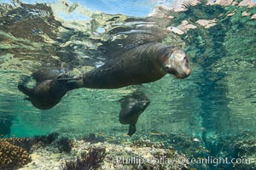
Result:
M256 141L252 132L210 142L185 134L157 134L150 138L152 140L127 139L119 143L96 134L69 139L59 133L50 133L26 139L0 139L0 169L256 168ZM239 161L231 163L232 159Z

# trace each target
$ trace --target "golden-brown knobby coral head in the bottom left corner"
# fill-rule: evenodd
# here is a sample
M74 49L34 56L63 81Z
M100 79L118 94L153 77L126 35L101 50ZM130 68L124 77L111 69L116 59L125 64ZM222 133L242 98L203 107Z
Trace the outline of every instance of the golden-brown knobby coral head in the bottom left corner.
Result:
M0 141L0 169L22 167L31 161L27 151L15 144Z

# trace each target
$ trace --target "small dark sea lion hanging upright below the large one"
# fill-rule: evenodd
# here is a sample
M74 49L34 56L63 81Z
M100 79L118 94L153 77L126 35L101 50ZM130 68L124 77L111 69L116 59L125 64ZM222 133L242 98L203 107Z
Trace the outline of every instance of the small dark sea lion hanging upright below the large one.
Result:
M135 92L120 99L121 111L119 112L119 122L129 124L129 136L136 133L136 123L139 116L148 107L150 101L143 93Z

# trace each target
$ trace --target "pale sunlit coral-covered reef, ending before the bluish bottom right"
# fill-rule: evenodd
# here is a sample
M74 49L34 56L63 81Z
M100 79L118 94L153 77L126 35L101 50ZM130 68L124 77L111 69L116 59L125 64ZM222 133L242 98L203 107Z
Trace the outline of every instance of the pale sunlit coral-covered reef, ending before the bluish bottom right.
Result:
M186 156L173 147L139 140L110 144L90 134L68 139L58 133L32 139L1 139L1 169L188 169ZM18 141L18 142L17 142ZM12 147L9 147L11 145ZM16 152L24 150L22 152Z

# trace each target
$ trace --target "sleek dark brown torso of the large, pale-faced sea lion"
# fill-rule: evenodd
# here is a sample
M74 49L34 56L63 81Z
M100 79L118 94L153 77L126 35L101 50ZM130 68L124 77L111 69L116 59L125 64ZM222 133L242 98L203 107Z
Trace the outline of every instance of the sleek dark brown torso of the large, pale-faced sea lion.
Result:
M143 44L85 73L77 86L78 88L123 88L157 81L168 72L166 65L169 62L169 55L175 51L184 57L186 55L181 48L162 43ZM186 69L181 71L181 78L189 76L189 67Z

